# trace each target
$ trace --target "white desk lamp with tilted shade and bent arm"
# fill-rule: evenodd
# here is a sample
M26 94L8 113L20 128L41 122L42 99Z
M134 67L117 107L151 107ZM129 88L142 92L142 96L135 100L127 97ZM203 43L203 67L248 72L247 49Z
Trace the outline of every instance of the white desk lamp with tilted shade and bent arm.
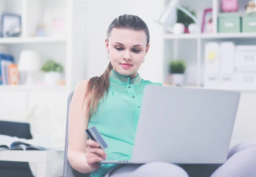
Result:
M179 26L175 26L177 22L177 9L180 9L182 12L184 12L186 15L192 18L192 20L195 21L195 24L197 26L200 26L198 19L192 15L191 12L189 12L184 7L180 6L178 4L178 0L171 0L168 6L163 9L157 16L155 17L155 21L159 23L160 25L164 26L167 31L172 33L178 33L177 28Z

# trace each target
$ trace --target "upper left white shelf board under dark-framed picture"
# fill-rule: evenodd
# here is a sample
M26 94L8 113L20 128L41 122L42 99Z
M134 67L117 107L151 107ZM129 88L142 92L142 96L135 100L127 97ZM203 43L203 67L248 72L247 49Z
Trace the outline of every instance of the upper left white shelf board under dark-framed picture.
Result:
M0 38L0 44L55 43L55 42L66 42L66 38L56 38L56 37Z

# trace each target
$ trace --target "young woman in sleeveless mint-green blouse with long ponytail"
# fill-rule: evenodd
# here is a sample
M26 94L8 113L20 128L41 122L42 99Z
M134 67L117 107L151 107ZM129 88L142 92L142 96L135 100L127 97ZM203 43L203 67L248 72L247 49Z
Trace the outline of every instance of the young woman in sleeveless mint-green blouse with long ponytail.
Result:
M187 177L183 168L165 162L124 166L98 163L104 159L130 160L143 90L148 84L162 85L145 81L138 73L150 46L148 27L140 17L122 15L113 20L105 44L108 68L100 77L81 81L70 104L70 165L81 173L91 173L91 177ZM105 151L87 139L85 130L91 126L96 126L107 142ZM230 151L236 154L212 176L256 176L256 145L242 147L242 151L239 147L242 145Z

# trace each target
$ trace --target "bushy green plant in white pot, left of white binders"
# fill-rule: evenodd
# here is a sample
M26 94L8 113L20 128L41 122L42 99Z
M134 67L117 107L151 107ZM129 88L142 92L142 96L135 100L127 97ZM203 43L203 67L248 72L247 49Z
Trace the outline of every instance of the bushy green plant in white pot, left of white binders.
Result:
M180 86L184 83L186 63L183 60L171 61L169 73L172 76L173 84Z

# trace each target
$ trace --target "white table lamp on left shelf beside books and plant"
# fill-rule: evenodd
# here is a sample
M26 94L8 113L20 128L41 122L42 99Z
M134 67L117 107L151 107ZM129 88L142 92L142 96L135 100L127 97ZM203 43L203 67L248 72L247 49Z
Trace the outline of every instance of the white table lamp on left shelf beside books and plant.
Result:
M23 50L20 53L18 70L26 73L25 85L35 84L34 75L40 70L40 56L38 52Z

